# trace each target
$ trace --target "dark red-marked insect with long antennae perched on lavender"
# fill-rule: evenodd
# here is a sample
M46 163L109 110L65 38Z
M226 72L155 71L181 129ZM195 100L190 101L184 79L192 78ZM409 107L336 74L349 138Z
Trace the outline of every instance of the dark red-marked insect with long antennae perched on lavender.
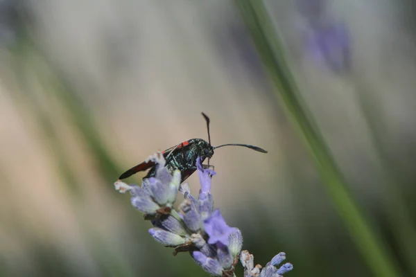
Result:
M207 121L207 131L208 131L208 142L203 139L190 139L189 141L184 141L178 145L175 145L169 149L166 149L162 152L164 159L166 159L165 167L169 172L174 172L175 170L180 170L181 174L181 183L185 181L189 176L192 175L196 170L196 158L205 161L208 158L208 164L204 165L205 168L209 168L209 159L214 155L214 150L217 148L222 148L223 146L243 146L245 148L250 148L257 152L267 153L266 150L259 148L254 145L248 144L239 144L239 143L227 143L223 145L218 145L216 147L211 146L211 137L209 135L209 118L207 115L202 113L205 120ZM137 172L149 170L148 174L144 179L154 177L156 174L155 162L146 160L143 163L138 164L124 172L119 180L126 179L132 175L135 175Z

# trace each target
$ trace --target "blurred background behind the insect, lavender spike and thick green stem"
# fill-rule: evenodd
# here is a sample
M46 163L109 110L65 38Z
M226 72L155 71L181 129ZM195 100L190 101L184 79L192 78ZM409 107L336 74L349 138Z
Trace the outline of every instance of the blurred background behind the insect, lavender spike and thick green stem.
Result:
M416 276L415 4L265 2L348 189ZM232 1L1 0L0 276L207 276L113 186L207 139L201 111L214 145L269 151L211 159L215 205L255 262L284 251L287 276L372 276L281 104Z

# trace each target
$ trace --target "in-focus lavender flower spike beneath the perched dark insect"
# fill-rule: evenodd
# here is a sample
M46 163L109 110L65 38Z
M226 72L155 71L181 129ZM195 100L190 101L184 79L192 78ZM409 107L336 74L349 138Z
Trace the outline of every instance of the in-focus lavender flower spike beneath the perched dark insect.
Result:
M130 191L132 205L145 213L153 228L150 235L165 247L173 247L176 255L189 252L195 262L211 276L235 276L236 264L241 261L245 269L245 277L278 277L293 267L290 263L277 269L285 254L279 253L261 270L260 265L254 267L254 257L248 251L242 251L243 236L241 231L230 227L217 209L214 211L214 200L211 195L211 177L213 170L202 167L201 159L197 159L197 170L200 177L198 199L191 195L188 184L180 186L180 171L171 175L166 170L164 157L159 152L148 158L157 164L155 177L145 179L141 186L128 185L116 181L114 185L120 193ZM184 201L175 211L173 203L177 192L184 195Z

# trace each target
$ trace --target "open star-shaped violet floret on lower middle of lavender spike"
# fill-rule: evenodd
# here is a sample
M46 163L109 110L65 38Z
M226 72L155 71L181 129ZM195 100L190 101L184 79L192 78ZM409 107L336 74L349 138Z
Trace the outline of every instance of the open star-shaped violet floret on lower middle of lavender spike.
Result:
M208 243L215 244L221 242L224 245L229 244L229 235L236 231L225 223L220 210L214 211L211 217L204 221L205 232L209 235Z

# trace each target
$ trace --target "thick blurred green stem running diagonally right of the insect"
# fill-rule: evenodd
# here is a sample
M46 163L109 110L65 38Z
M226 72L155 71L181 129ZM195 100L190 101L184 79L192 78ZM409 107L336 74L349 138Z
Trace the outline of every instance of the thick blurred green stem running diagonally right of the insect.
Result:
M316 163L329 196L374 276L399 276L388 250L347 190L347 185L306 105L289 69L283 46L261 0L235 0L266 71L293 125Z

